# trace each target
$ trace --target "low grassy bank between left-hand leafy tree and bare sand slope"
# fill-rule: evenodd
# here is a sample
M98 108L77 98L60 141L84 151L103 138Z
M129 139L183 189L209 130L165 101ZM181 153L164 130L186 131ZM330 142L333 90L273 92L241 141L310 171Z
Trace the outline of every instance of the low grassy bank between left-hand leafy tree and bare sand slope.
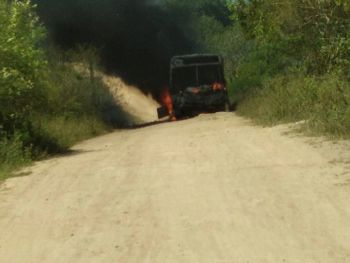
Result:
M70 64L52 67L43 92L46 100L30 115L6 130L0 114L0 182L33 161L134 121L100 78L92 81Z

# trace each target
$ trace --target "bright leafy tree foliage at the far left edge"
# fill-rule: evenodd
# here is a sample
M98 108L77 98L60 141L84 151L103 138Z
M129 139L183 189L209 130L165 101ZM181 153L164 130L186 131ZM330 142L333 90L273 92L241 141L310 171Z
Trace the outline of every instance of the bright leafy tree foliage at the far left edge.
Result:
M40 93L44 30L30 1L0 1L0 125L14 132Z

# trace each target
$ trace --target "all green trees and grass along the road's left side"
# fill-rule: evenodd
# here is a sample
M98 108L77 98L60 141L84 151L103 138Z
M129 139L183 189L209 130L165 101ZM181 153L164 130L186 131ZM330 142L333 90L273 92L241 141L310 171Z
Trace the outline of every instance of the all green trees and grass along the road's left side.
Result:
M0 0L0 24L0 180L123 120L108 87L94 76L94 48L49 48L29 0Z

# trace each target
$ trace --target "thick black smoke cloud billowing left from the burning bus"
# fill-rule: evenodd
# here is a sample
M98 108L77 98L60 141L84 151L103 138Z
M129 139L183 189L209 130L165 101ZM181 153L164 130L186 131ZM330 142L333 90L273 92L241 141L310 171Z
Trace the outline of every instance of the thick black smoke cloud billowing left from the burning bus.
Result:
M96 46L107 70L154 94L168 81L171 56L193 51L178 18L150 0L36 0L36 4L56 45Z

